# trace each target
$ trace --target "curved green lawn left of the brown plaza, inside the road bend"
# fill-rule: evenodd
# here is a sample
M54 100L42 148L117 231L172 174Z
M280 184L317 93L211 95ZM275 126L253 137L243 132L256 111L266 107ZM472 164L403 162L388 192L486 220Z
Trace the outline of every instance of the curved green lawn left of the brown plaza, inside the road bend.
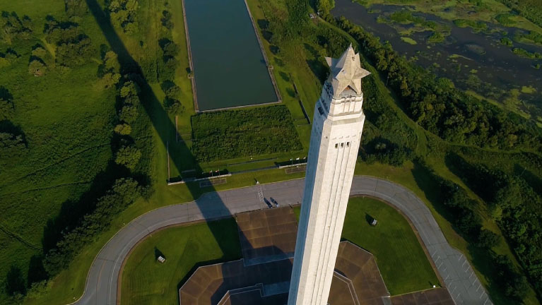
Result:
M156 261L157 253L163 253L165 263ZM197 265L238 258L233 218L156 232L136 246L124 265L121 303L176 304L179 284Z

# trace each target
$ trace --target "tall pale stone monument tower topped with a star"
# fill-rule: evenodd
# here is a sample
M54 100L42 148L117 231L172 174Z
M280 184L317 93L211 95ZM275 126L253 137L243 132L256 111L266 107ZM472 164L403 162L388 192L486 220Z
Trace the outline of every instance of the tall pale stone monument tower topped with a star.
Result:
M352 45L326 57L331 75L314 107L305 191L288 305L327 304L365 114L360 66Z

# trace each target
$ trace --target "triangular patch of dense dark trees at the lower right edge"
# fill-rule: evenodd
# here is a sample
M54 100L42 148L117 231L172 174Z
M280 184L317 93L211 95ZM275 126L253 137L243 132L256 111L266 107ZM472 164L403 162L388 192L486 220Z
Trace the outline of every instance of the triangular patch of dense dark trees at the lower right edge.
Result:
M542 196L524 179L449 155L454 173L488 203L538 297L542 296ZM518 294L524 289L516 289Z

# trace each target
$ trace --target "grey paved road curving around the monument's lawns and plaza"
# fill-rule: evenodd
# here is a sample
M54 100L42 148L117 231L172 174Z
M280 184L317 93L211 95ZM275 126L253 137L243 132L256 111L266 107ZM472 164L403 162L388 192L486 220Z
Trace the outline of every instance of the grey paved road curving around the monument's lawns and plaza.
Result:
M169 205L141 215L117 232L98 253L88 272L83 297L76 304L117 304L122 261L139 240L156 229L267 208L263 198L273 197L282 205L295 205L301 202L304 183L304 179L297 179L206 193L191 203ZM350 194L381 198L411 220L456 304L491 304L469 262L449 246L420 198L399 184L365 176L354 177Z

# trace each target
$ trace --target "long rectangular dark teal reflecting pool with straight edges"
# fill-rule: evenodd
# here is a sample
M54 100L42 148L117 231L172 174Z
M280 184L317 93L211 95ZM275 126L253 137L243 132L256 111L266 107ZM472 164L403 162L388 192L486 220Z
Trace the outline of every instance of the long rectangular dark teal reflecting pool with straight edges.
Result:
M276 102L243 0L184 0L199 110Z

